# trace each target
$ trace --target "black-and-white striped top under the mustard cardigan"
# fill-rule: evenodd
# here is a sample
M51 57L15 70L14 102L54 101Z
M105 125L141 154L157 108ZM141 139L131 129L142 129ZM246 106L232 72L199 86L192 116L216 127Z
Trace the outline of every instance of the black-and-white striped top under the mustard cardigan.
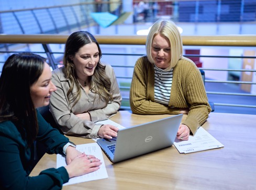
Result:
M169 104L172 88L173 68L165 71L154 65L154 100L162 104Z

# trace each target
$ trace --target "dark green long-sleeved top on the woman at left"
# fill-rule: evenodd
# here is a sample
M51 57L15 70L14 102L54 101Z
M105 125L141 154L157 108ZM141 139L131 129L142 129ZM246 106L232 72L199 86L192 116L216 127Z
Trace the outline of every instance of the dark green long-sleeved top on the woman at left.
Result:
M47 123L38 112L39 131L36 142L46 146L49 154L61 153L69 141ZM0 189L61 189L69 181L64 167L43 170L30 177L37 159L36 146L28 147L26 134L21 134L11 121L0 123Z

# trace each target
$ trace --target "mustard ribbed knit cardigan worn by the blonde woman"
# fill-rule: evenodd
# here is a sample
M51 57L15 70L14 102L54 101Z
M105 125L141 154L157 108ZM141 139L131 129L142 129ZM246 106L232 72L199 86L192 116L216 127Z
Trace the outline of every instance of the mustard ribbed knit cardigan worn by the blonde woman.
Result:
M140 57L134 67L130 88L130 107L136 114L179 114L188 108L183 124L194 135L211 111L204 82L195 63L182 57L173 68L172 89L169 105L154 101L154 66L147 56Z

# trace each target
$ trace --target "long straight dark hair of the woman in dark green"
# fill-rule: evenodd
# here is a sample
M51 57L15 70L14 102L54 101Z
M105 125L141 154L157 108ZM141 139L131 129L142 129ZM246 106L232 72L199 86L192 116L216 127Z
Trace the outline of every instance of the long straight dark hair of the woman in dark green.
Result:
M38 133L30 87L43 72L45 59L32 53L13 54L6 60L0 77L0 122L12 121L31 146Z

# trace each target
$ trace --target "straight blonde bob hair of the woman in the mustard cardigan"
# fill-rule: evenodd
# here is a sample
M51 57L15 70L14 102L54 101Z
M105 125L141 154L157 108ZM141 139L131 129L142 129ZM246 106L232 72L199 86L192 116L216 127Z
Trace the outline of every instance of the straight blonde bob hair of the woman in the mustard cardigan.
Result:
M182 47L182 39L181 34L175 23L171 20L167 19L160 19L154 22L153 26L151 27L147 41L146 41L146 50L147 56L150 63L154 63L154 60L151 55L152 49L152 41L155 35L160 34L162 37L166 37L170 41L171 49L171 61L170 65L166 70L170 70L171 68L175 67L177 62L183 55L183 47Z

